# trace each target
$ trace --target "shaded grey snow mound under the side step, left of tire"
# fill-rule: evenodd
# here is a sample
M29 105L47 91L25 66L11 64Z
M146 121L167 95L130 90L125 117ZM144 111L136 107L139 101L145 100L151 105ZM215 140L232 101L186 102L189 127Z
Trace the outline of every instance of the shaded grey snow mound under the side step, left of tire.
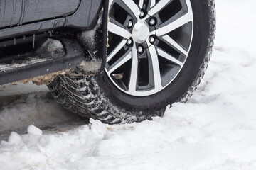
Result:
M46 127L76 119L77 115L70 114L45 93L27 94L0 108L0 131L23 129L30 124Z

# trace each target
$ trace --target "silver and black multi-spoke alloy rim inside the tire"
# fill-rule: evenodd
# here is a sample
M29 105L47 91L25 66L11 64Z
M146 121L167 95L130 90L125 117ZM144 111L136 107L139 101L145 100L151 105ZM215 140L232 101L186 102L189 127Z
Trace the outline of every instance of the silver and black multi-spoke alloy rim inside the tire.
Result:
M131 96L150 96L177 77L193 38L190 0L110 0L105 72Z

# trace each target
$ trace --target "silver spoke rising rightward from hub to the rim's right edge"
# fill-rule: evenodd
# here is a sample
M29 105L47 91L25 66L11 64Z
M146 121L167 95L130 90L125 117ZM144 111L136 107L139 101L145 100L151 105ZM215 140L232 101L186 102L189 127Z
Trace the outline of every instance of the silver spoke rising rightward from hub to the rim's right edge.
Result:
M170 33L171 31L176 30L177 28L191 21L193 21L193 14L188 11L188 13L169 23L167 26L161 27L160 25L160 28L156 30L156 35L161 36L165 35L166 33Z

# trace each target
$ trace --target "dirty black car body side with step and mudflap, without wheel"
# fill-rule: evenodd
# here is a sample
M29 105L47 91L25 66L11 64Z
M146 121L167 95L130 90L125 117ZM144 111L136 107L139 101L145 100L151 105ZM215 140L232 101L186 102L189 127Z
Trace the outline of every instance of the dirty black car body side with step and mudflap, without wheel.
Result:
M102 0L0 0L0 84L75 68L97 56L103 69L107 14L102 16L107 13L107 3ZM90 44L84 44L79 37L86 36L93 28L97 28L90 34L97 42L95 54L90 51ZM49 38L63 45L64 55L50 56L50 51L48 56L38 55L38 49Z

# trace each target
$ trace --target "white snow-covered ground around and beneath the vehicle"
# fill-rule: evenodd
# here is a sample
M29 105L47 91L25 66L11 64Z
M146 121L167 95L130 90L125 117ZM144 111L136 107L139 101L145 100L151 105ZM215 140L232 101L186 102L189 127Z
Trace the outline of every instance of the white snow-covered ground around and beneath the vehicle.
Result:
M0 102L1 135L20 135L1 141L0 169L255 170L256 1L216 5L213 57L188 103L154 121L104 125L70 115L45 94L9 98ZM34 126L26 132L29 124L43 135Z

